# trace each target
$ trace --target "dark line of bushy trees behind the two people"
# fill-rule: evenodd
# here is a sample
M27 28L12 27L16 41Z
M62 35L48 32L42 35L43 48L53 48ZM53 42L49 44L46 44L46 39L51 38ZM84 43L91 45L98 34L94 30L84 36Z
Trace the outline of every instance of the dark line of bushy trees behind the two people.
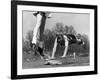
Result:
M77 44L72 44L68 48L68 53L73 53L76 52L77 55L80 54L86 54L89 55L89 48L90 48L90 43L89 43L89 38L86 34L80 34L77 33L76 30L74 29L74 26L70 25L63 25L63 23L56 23L55 26L50 30L46 29L44 31L43 35L43 40L44 40L44 47L47 51L51 52L53 49L54 41L56 38L56 33L64 33L64 34L74 34L77 37L80 37L84 42L84 46L80 46ZM29 31L26 36L26 40L23 39L23 50L24 51L30 51L30 43L32 41L32 31ZM61 47L58 45L57 47L57 53L58 55L62 54L64 50L64 47Z

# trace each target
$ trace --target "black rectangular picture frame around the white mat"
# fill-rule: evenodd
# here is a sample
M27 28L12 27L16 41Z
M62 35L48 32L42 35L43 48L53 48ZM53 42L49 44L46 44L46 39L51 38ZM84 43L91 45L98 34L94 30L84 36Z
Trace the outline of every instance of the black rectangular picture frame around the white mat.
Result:
M18 6L44 6L55 8L76 8L89 9L94 12L94 70L80 72L58 72L45 74L18 74ZM91 34L90 34L91 35ZM21 54L21 53L20 53ZM42 78L42 77L58 77L58 76L75 76L97 74L97 6L81 5L81 4L63 4L63 3L47 3L47 2L31 2L31 1L11 1L11 78Z

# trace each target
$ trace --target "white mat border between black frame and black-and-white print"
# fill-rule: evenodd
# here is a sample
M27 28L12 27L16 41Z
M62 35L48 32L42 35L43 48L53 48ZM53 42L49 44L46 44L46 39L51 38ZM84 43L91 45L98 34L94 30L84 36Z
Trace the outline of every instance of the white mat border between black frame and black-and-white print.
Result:
M94 10L91 9L76 9L76 8L58 8L58 7L45 7L45 6L25 6L18 5L17 22L18 22L18 75L26 74L46 74L46 73L61 73L61 72L80 72L94 70ZM55 68L33 68L22 69L22 11L50 11L50 12L73 12L73 13L88 13L90 14L90 65L77 66L77 67L55 67ZM33 73L34 72L34 73Z

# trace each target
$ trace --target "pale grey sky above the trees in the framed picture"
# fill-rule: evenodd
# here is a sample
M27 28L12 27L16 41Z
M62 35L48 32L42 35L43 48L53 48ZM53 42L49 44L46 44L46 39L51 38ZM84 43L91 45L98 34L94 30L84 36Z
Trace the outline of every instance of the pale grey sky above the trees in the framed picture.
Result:
M45 29L52 29L57 22L64 25L72 25L77 33L90 36L90 14L82 13L52 13L51 17L46 20ZM33 12L23 11L23 37L25 38L29 30L33 30L36 25L36 17Z

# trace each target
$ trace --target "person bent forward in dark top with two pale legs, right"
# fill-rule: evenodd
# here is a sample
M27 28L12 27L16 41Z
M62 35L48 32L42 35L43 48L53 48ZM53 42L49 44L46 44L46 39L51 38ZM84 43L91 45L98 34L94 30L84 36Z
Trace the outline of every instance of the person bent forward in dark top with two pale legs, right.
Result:
M81 46L84 45L84 41L82 41L82 39L80 39L80 38L77 38L73 34L62 34L62 33L57 34L55 42L54 42L54 47L53 47L51 59L55 58L55 52L56 52L56 48L57 48L58 44L60 46L65 46L64 53L61 57L66 57L66 54L68 51L68 46L71 44L75 44L75 43L77 43Z

